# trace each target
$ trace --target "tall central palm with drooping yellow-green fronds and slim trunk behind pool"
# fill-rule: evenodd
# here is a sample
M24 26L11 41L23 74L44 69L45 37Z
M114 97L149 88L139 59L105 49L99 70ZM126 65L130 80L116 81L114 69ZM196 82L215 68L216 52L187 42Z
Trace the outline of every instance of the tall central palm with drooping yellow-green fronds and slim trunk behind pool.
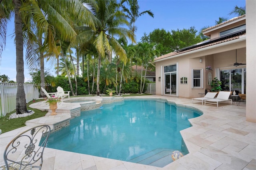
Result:
M86 2L91 2L86 0ZM118 11L116 0L95 0L91 6L92 13L96 16L95 30L86 30L81 33L80 40L85 42L93 40L93 44L98 52L98 72L97 72L97 95L100 95L100 67L102 59L106 53L114 50L120 56L122 61L127 60L126 52L115 39L115 37L128 37L134 42L134 34L126 28L120 26L129 26L124 14ZM89 8L89 7L88 7Z

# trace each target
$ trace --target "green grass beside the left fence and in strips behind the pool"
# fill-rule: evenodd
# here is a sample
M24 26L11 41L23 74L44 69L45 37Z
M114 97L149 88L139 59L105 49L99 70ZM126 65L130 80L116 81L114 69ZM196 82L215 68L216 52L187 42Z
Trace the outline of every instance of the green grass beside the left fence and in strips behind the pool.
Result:
M130 94L130 95L122 95L121 97L128 97L128 96L146 96L146 95L150 95L150 94ZM89 96L94 96L94 95L79 95L79 96L70 96L70 97L89 97ZM104 97L108 97L109 95L104 95ZM114 96L114 95L113 95ZM116 96L114 96L116 97ZM40 99L40 100L36 100L35 102L39 102L39 101L43 101L44 99ZM16 111L12 111L8 114L6 114L5 117L1 117L0 118L0 129L2 130L2 133L4 132L8 132L8 131L11 131L11 130L14 130L16 128L20 128L20 127L24 127L26 126L25 123L26 121L28 120L31 120L31 119L36 119L38 117L43 117L44 115L46 115L46 113L48 111L40 111L38 109L32 109L29 107L29 105L31 105L32 103L34 103L33 101L30 101L28 104L27 104L27 110L32 110L34 111L35 113L33 115L30 115L28 117L20 117L20 118L16 118L16 119L8 119L9 116L12 114L12 113L15 113Z

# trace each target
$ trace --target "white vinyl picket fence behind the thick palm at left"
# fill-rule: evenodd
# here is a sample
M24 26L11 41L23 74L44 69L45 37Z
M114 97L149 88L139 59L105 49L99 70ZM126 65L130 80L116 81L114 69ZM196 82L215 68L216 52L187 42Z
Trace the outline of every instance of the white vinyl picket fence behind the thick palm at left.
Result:
M0 117L16 109L17 83L0 83ZM38 99L39 92L34 84L24 83L26 103Z

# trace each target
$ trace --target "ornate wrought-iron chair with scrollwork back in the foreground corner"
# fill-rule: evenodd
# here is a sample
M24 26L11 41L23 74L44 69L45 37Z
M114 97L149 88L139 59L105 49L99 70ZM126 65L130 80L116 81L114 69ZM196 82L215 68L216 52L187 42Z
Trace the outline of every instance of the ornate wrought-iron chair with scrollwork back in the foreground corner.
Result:
M49 135L50 127L48 125L40 125L30 128L16 136L4 150L5 165L0 166L0 169L41 169L44 147L46 146Z

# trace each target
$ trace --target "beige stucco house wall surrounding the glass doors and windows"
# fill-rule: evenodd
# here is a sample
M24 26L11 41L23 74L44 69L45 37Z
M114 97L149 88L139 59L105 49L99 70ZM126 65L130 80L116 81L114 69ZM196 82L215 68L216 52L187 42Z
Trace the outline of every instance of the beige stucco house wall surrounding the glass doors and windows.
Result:
M237 49L237 62L246 63L246 41L233 43L231 45L225 45L208 49L205 51L198 51L187 55L181 55L178 57L164 59L156 62L156 94L165 95L162 93L164 88L164 74L162 74L162 67L165 65L171 65L177 63L177 97L194 98L199 97L198 93L204 93L205 89L211 89L208 85L208 73L212 73L212 79L217 77L215 69L232 69L241 68L245 66L230 66L236 62L236 49ZM227 51L228 50L228 51ZM202 63L200 63L202 59ZM211 66L212 71L207 71L206 66ZM192 69L203 69L204 71L204 86L201 89L192 88ZM158 77L161 77L161 81L158 81ZM181 77L188 77L188 84L180 84Z

